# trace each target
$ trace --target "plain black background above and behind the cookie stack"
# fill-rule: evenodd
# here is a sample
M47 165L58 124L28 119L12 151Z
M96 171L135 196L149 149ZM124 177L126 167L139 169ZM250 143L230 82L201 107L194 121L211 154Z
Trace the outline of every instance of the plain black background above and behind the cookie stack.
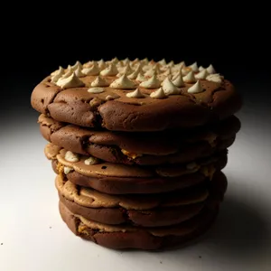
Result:
M2 119L33 114L33 88L59 65L115 56L211 63L246 102L269 107L269 16L259 2L239 8L223 1L203 7L176 2L157 4L155 9L138 2L83 9L80 3L62 3L60 9L49 2L40 4L16 4L7 11L8 20L1 19Z

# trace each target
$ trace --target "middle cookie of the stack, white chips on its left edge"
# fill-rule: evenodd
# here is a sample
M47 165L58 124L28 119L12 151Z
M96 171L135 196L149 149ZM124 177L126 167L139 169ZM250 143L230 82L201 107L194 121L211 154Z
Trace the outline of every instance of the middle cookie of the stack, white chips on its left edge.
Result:
M51 144L46 146L45 154L55 161L52 164L55 172L66 175L70 182L108 194L158 193L182 189L204 182L206 178L211 179L216 170L227 164L226 151L197 163L148 167L89 164L88 156L79 156Z

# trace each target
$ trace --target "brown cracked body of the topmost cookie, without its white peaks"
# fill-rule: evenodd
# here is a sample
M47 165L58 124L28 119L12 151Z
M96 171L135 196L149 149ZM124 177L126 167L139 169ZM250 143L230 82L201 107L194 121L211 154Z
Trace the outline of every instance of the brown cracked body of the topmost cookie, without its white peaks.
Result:
M127 98L128 89L105 88L103 93L89 93L95 76L81 78L85 87L61 89L51 78L43 79L33 89L31 103L37 111L54 119L85 127L105 127L113 131L162 131L174 127L204 126L235 114L241 98L227 79L222 83L201 80L203 92L189 94L192 84L185 84L178 95L151 98L155 89L138 87L145 98ZM110 83L116 77L106 77ZM138 85L138 82L135 81ZM131 90L128 90L131 91ZM107 96L115 96L107 100ZM92 101L95 99L95 103ZM95 106L94 106L95 104ZM163 110L161 109L163 108Z

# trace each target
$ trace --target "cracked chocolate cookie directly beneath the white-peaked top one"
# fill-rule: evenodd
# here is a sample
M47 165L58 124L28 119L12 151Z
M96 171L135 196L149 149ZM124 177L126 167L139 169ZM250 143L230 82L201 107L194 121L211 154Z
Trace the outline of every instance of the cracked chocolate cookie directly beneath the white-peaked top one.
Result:
M41 115L43 137L78 154L91 154L110 163L181 164L210 156L233 144L240 128L237 117L217 126L156 133L94 131L66 125Z

